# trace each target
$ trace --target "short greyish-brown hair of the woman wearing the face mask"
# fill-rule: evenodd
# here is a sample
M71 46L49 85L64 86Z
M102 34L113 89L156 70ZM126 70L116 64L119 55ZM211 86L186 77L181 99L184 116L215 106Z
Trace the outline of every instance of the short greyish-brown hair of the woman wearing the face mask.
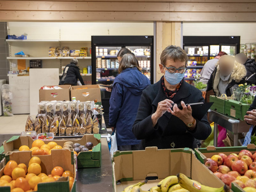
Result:
M166 60L176 60L185 61L185 65L188 63L188 55L187 53L179 46L169 45L164 49L161 53L160 60L161 64L165 66Z

